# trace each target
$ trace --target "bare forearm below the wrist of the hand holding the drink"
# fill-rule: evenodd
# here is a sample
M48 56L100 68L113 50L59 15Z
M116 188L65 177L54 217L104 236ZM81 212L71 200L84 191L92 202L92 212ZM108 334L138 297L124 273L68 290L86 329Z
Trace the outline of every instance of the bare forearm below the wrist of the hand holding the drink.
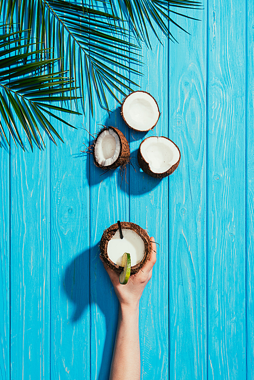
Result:
M140 380L139 307L119 305L110 380Z

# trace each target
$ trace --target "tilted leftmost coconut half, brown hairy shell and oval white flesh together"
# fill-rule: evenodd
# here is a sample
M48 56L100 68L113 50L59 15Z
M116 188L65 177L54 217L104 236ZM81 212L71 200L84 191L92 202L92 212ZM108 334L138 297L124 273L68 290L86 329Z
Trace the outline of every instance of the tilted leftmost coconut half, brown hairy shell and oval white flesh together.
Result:
M124 134L117 128L105 127L93 143L93 159L102 169L116 169L130 160L130 147Z

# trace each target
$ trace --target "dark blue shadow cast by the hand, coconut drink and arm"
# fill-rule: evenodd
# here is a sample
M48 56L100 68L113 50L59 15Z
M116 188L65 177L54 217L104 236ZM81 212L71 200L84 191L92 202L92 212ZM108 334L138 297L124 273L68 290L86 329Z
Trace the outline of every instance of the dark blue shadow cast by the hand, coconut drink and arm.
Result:
M99 252L98 244L92 247L90 251L86 250L76 256L65 270L62 288L69 301L75 305L75 311L71 317L72 323L75 324L80 318L82 318L82 314L88 305L90 305L91 314L93 308L97 309L99 307L105 316L106 326L104 326L103 331L106 331L106 336L101 368L99 375L96 378L96 380L105 380L109 378L110 364L114 349L118 317L118 301L112 291L112 284L108 274L99 259ZM89 263L91 262L93 268L90 269ZM98 269L97 265L99 266ZM96 273L94 273L94 267L97 269ZM90 275L90 273L93 274ZM95 311L94 313L97 314L98 312ZM94 321L91 321L90 339L93 340L93 342L94 339L97 339L97 334L93 334L94 331L92 330L96 328ZM101 326L99 328L101 328ZM97 347L100 347L99 341L94 342L94 346L95 344Z

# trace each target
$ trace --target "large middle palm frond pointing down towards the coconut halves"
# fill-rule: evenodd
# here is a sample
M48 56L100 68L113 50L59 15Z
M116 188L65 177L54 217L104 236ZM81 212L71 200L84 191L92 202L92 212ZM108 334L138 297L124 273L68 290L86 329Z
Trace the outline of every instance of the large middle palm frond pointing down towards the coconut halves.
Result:
M107 0L93 2L98 9L88 7L83 0L80 0L80 4L74 4L69 0L9 0L6 15L8 22L13 21L12 10L20 3L25 4L25 9L30 11L27 19L25 13L18 12L18 24L27 28L36 24L36 40L44 41L44 45L38 44L37 49L41 49L42 55L43 48L54 48L52 54L48 52L48 57L57 54L60 58L59 71L69 70L69 76L75 78L75 97L78 97L77 88L80 86L83 108L87 94L93 113L95 93L101 106L108 109L105 96L108 86L102 85L100 80L105 65L110 71L107 79L112 82L113 88L121 97L122 94L129 93L133 86L137 86L135 82L130 86L129 73L131 71L139 74L134 69L130 70L130 62L139 63L138 47L130 43L128 32L122 26L121 20L112 13L112 9L107 11L110 4ZM31 36L28 32L27 43L30 42ZM131 57L130 50L133 50ZM42 59L42 56L38 59ZM85 64L80 75L81 61ZM80 62L78 67L76 62ZM109 93L111 94L111 91ZM116 95L115 97L119 100Z

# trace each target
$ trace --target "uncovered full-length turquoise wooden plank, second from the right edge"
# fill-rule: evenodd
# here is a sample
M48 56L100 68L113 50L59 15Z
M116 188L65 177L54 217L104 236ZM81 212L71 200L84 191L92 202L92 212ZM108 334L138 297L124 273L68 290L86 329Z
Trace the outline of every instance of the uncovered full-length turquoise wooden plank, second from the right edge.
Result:
M245 1L234 7L208 9L207 361L216 380L246 375Z

